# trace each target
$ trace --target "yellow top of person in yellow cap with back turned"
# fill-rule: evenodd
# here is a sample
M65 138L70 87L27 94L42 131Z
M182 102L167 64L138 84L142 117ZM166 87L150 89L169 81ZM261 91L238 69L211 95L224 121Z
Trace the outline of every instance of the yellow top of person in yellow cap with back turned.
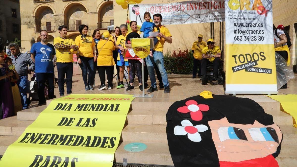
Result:
M112 66L115 65L113 60L112 51L116 49L113 42L101 40L97 44L98 57L97 57L97 66ZM103 48L102 48L103 47ZM102 48L102 49L101 49ZM101 49L101 50L100 50Z

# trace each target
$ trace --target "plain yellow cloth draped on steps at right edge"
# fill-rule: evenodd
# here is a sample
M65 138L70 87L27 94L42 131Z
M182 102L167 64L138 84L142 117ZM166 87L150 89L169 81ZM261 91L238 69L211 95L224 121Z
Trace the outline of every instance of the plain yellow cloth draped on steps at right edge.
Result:
M268 97L281 103L282 108L285 110L285 112L293 117L293 126L297 127L297 94L270 95Z

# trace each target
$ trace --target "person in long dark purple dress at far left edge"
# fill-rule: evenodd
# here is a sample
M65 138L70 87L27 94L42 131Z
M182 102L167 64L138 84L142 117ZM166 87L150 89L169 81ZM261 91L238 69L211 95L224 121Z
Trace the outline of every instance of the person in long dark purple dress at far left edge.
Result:
M8 70L5 63L7 55L0 53L0 98L2 102L2 118L7 118L14 115L13 97L10 85L10 76L13 72Z

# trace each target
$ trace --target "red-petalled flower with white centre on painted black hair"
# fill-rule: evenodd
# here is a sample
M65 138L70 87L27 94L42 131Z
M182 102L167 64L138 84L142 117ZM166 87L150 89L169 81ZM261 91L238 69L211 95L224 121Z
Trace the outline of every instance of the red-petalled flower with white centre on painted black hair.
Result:
M190 112L191 118L194 121L200 121L202 119L201 111L208 111L209 107L206 104L198 104L195 100L188 100L186 105L183 107L179 107L177 109L178 112L188 113Z

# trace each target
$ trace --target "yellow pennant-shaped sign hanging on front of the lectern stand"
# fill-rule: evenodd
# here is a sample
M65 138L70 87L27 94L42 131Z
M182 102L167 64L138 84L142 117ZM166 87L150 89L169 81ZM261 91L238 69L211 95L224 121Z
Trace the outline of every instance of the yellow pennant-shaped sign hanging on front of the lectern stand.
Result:
M133 38L131 40L133 51L140 59L144 59L150 54L149 38Z

